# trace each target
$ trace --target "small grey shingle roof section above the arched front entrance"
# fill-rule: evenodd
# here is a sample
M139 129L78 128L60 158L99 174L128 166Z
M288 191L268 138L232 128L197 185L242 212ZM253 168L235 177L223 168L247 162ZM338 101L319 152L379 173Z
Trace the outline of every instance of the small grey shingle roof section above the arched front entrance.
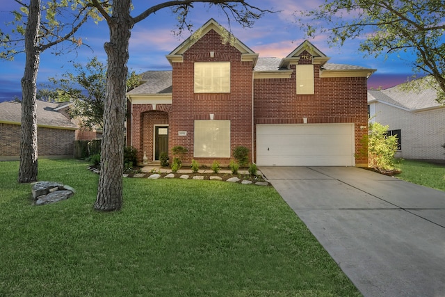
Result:
M147 71L140 76L145 83L133 88L128 95L172 93L172 70Z

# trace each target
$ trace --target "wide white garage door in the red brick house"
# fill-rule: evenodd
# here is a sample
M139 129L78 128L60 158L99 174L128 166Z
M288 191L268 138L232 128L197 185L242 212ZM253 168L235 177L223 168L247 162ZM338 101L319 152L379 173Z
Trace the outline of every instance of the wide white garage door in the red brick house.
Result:
M355 166L353 124L257 125L258 166Z

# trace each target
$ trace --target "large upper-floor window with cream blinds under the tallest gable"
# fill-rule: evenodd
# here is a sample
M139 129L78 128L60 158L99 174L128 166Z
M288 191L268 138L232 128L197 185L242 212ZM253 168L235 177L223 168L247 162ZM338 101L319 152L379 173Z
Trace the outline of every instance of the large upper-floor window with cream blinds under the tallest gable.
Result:
M195 62L195 93L230 93L230 62Z

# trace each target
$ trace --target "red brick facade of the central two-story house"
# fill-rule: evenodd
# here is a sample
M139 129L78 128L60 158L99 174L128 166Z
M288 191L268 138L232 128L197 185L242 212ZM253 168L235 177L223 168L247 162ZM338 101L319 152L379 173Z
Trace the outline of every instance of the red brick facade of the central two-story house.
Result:
M212 52L212 54L210 54ZM255 161L255 125L352 123L355 127L355 152L362 150L362 136L367 134L366 76L321 77L321 64L314 63L312 55L302 51L290 63L290 78L254 79L254 60L243 59L243 53L221 42L220 35L211 29L184 52L181 61L172 64L172 104L131 104L131 127L127 128L127 145L138 150L138 161L143 152L153 159L154 125L168 125L170 158L171 148L186 147L184 163L196 159L201 164L214 160L221 164L233 159L236 146L250 150L249 160ZM298 59L299 58L299 59ZM194 93L195 62L230 62L230 93ZM296 65L314 65L314 94L297 95ZM274 70L278 72L278 69ZM152 110L156 105L156 110ZM230 120L230 158L195 158L193 156L195 120ZM186 134L186 135L184 135ZM355 163L367 163L367 156L355 156Z

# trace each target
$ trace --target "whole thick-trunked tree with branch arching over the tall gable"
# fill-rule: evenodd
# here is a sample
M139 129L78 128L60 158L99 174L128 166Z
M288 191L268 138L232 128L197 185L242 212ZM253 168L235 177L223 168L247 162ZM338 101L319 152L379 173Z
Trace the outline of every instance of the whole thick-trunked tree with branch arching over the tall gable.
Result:
M112 15L105 10L99 0L91 0L93 5L102 13L108 24L110 40L104 45L108 56L106 75L106 97L104 110L104 134L102 134L101 172L95 209L114 211L122 207L122 152L124 145L125 121L125 87L127 79L127 62L129 59L129 38L131 29L138 22L149 17L163 8L171 8L177 15L179 32L190 29L187 22L188 12L194 3L207 3L209 8L219 8L227 19L235 19L244 26L252 26L254 19L266 13L250 5L244 0L173 0L157 3L147 7L143 13L132 17L131 0L113 1Z

